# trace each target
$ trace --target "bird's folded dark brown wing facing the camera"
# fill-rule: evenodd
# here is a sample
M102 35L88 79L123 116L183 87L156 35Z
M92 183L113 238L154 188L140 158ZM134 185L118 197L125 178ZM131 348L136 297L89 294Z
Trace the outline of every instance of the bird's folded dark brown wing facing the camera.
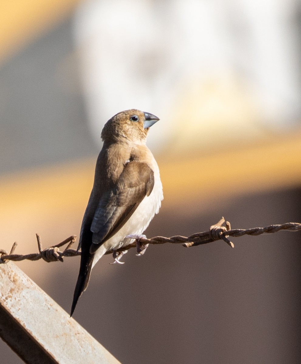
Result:
M116 186L103 193L95 211L90 253L94 253L128 221L153 187L154 172L146 163L132 161L125 165Z

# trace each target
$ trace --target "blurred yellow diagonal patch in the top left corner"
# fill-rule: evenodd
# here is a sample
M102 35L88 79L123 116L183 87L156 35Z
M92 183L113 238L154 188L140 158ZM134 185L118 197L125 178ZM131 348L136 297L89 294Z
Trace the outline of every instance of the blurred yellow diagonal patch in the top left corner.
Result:
M1 0L0 62L67 16L80 0Z

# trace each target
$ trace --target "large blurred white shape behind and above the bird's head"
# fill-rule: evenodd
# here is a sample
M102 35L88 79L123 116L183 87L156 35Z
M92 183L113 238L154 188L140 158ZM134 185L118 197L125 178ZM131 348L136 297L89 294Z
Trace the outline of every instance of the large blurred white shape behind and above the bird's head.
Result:
M162 119L151 146L257 135L300 119L298 54L284 0L89 0L75 17L92 134L129 108ZM261 127L258 128L258 122ZM218 134L219 133L219 134ZM185 141L184 141L185 143Z

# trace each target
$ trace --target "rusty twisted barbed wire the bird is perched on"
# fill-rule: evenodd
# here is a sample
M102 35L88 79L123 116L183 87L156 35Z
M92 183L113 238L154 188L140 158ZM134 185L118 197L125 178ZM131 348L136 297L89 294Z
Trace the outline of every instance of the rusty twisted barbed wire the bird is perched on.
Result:
M222 226L225 223L225 226ZM202 244L208 244L213 241L223 240L225 241L231 248L234 248L234 244L228 239L229 236L231 237L241 237L243 235L252 235L258 236L264 233L277 233L280 230L288 230L288 231L298 231L301 230L301 223L298 222L286 222L282 225L269 225L266 227L253 227L252 229L233 229L231 230L230 223L225 221L222 217L216 224L210 226L209 230L202 233L195 233L190 235L189 237L185 236L172 236L169 238L163 236L156 236L153 238L146 238L141 236L131 236L135 237L135 242L127 245L126 247L119 248L117 250L109 250L105 254L113 254L115 261L116 261L116 254L117 260L121 258L121 256L127 252L128 249L136 248L137 255L144 254L147 246L149 244L158 245L158 244L182 244L185 248L190 248L191 246L198 246ZM80 255L80 250L71 249L72 245L76 241L76 235L72 235L65 239L64 241L60 242L57 245L49 246L46 249L42 248L42 243L39 234L36 234L37 238L37 245L39 249L39 253L32 253L32 254L14 254L17 243L15 242L11 248L11 251L8 252L6 250L0 249L0 264L6 263L9 260L12 261L21 261L21 260L39 260L43 259L46 262L54 262L54 261L61 261L63 262L63 257L75 257ZM65 244L67 247L60 251L59 248Z

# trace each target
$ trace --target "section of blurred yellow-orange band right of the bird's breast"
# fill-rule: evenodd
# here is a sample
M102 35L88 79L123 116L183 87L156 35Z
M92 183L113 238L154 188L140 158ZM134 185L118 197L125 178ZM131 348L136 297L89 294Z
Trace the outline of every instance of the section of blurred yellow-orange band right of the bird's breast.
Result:
M269 139L161 163L165 203L301 187L301 131Z

